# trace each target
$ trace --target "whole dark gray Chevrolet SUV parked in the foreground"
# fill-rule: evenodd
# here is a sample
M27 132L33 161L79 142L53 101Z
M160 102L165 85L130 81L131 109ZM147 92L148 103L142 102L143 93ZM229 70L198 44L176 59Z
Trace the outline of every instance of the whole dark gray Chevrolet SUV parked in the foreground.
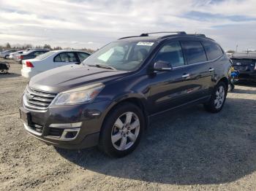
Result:
M129 154L157 114L203 104L225 104L230 61L204 35L128 36L76 65L32 77L20 117L29 134L56 147L98 145Z

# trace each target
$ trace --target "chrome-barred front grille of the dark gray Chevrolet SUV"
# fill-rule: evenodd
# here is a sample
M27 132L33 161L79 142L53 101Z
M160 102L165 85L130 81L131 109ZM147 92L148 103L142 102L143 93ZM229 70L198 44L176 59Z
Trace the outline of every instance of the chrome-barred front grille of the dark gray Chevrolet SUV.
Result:
M24 105L29 109L46 110L57 93L49 93L40 90L34 90L26 87L26 93L23 96Z

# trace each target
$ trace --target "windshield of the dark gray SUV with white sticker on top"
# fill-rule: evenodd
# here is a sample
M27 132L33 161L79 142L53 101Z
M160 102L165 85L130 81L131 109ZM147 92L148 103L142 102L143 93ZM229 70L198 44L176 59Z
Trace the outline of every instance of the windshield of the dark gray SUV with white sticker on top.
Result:
M155 44L155 42L112 42L86 58L83 64L134 71L145 61Z

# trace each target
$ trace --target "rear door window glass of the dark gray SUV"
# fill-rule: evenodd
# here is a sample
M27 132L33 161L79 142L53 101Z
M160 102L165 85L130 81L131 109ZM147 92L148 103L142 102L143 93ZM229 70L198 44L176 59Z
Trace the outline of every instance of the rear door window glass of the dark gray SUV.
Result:
M200 41L181 42L188 64L206 62L206 52Z

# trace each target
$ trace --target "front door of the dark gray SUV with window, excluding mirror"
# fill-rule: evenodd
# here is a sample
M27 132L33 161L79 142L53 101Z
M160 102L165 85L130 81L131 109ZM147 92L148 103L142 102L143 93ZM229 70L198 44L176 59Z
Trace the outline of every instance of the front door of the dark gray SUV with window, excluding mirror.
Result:
M149 101L150 114L162 112L189 101L188 91L192 84L187 76L187 65L179 42L164 44L154 63L164 61L170 63L172 71L156 71L151 77Z

